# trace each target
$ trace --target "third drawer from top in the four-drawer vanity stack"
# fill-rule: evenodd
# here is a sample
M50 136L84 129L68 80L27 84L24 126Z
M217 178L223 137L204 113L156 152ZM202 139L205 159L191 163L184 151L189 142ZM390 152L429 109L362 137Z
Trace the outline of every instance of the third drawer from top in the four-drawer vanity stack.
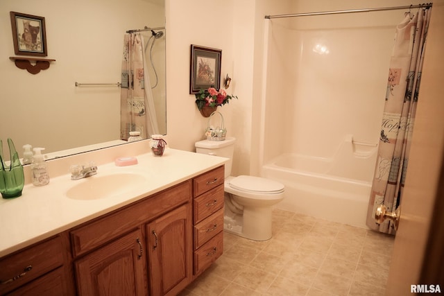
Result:
M194 226L194 250L223 230L223 209Z

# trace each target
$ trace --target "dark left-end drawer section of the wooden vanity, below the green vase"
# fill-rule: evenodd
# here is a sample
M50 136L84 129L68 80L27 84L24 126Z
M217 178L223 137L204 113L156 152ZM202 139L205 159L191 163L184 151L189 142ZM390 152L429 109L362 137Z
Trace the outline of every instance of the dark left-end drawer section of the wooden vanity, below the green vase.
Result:
M60 235L0 259L0 295L74 295Z

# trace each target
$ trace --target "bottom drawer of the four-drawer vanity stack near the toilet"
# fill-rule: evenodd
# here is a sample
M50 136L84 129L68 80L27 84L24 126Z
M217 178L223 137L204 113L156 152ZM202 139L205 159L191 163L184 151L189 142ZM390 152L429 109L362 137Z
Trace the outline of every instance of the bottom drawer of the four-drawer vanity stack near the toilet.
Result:
M223 252L223 232L216 234L214 238L194 251L194 275L198 275L207 269Z

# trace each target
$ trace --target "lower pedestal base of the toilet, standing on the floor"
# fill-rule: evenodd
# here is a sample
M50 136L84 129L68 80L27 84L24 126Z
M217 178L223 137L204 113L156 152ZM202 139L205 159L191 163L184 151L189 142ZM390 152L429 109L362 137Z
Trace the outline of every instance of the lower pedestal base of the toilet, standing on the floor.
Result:
M244 214L233 214L229 210L223 217L226 232L253 241L267 241L271 238L271 207L244 207Z

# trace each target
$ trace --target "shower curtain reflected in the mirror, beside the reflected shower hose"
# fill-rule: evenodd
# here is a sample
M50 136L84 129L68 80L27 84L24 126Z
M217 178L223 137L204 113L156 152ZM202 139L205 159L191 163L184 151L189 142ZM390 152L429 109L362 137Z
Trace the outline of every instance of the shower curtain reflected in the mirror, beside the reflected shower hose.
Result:
M128 140L133 131L140 132L143 139L159 133L144 52L144 38L140 33L124 35L120 100L123 140Z

